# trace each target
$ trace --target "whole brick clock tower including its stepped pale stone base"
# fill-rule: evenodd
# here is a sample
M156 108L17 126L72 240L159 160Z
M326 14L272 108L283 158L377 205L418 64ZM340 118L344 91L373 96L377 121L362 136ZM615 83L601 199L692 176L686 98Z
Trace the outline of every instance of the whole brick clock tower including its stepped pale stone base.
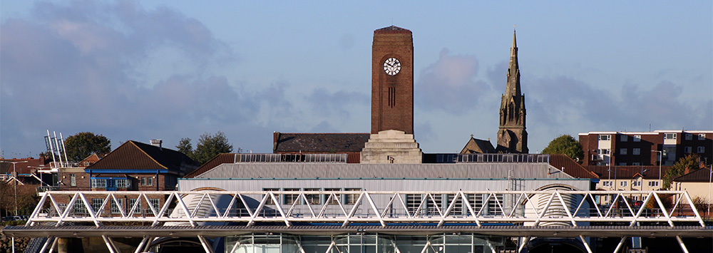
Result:
M414 37L389 26L371 44L371 135L361 163L421 163L414 139Z

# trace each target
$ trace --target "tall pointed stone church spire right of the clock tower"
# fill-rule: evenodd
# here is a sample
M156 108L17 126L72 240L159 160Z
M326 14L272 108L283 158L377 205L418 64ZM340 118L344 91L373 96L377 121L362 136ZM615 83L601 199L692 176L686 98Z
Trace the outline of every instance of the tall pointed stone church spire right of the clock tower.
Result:
M505 94L500 105L500 130L498 152L528 153L528 133L525 131L525 95L520 91L520 66L518 43L513 31L513 47L510 48L510 66Z

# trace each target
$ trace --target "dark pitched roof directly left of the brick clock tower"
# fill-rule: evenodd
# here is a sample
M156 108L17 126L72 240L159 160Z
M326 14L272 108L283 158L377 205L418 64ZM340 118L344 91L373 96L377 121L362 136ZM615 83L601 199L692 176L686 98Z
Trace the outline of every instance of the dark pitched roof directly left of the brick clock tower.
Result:
M369 133L275 133L274 152L361 152Z

